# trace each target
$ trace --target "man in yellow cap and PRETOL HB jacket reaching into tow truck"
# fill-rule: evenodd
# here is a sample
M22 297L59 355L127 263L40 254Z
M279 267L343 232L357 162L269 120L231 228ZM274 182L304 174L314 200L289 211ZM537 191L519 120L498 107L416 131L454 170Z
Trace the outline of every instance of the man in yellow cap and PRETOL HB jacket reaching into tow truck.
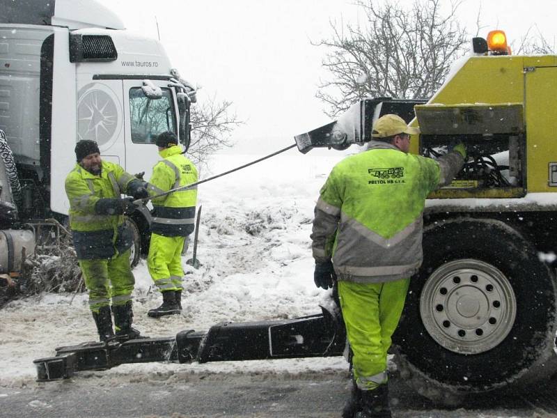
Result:
M387 352L422 263L425 198L466 158L463 144L437 160L410 154L418 132L394 114L377 119L368 150L336 164L315 206L314 281L324 289L337 282L353 354L345 418L391 417Z

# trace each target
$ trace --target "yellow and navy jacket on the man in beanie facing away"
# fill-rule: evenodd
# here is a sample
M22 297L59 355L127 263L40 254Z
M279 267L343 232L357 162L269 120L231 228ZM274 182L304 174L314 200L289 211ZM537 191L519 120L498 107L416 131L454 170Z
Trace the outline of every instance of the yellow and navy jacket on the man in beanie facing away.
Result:
M164 160L152 169L148 189L151 195L162 194L176 187L196 183L197 169L182 154L180 146L159 151ZM194 231L197 187L179 190L152 199L151 231L167 237L187 236Z

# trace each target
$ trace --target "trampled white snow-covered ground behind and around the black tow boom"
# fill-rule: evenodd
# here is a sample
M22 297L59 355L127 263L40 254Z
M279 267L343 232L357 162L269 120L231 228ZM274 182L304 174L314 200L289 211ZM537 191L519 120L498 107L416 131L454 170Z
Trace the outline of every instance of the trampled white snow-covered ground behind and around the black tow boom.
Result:
M259 155L216 155L208 178ZM256 165L204 183L198 259L187 274L182 316L148 318L161 302L144 261L134 269L134 325L147 336L207 330L223 320L295 318L320 312L328 293L313 284L310 238L313 207L331 168L344 157L331 151L301 155L292 149ZM0 311L0 387L36 385L33 359L54 355L57 346L95 341L85 294L41 295L17 300ZM111 378L171 375L185 370L217 373L347 370L342 357L217 364L127 364L104 371Z

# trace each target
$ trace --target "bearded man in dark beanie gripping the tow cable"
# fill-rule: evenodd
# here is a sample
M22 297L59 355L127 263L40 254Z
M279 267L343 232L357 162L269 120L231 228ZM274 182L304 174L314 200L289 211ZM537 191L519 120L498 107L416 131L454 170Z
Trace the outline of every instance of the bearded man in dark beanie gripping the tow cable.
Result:
M100 341L140 338L132 327L133 241L124 215L133 212L134 199L148 197L146 183L118 164L102 161L95 141L77 142L75 155L77 164L65 178L65 192L75 252ZM121 199L120 194L133 197Z

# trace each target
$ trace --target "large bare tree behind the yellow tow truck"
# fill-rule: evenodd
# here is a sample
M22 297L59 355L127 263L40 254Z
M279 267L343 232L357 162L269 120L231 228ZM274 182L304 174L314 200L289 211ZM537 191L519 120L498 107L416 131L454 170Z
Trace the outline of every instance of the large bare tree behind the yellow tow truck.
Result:
M469 42L456 17L460 1L441 15L441 0L416 0L409 9L386 1L356 0L365 22L331 22L333 36L313 45L329 48L323 65L331 78L317 98L336 116L368 96L428 98L444 82L450 64Z

